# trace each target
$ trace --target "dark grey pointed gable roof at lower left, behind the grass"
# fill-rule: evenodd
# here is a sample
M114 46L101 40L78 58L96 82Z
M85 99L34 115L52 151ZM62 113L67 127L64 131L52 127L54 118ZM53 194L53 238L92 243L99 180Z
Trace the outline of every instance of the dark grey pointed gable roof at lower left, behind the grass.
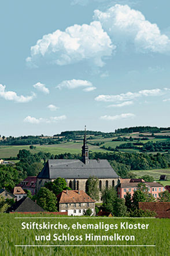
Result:
M42 207L40 207L38 204L36 204L34 201L29 199L29 197L23 197L19 201L17 201L15 204L12 205L12 207L9 208L10 212L39 212L39 211L45 211Z

